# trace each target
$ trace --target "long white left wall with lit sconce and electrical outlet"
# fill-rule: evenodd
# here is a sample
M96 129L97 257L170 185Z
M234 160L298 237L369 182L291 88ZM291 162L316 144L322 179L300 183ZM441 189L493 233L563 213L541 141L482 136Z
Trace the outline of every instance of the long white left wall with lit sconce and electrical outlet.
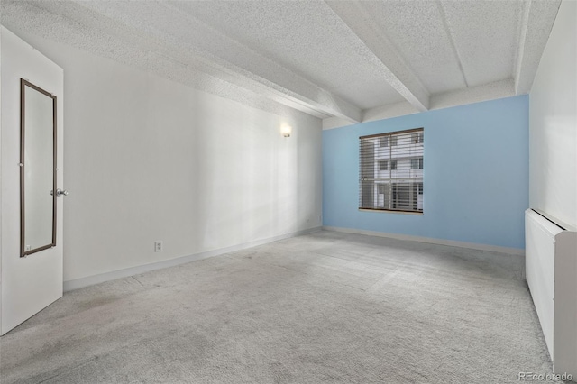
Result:
M21 36L64 69L65 281L321 224L320 119Z

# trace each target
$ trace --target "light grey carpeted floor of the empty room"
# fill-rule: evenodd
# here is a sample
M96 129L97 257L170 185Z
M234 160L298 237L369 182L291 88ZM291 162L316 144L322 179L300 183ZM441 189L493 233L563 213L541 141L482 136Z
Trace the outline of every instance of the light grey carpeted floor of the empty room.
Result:
M322 231L69 292L0 339L0 381L517 383L552 372L523 268Z

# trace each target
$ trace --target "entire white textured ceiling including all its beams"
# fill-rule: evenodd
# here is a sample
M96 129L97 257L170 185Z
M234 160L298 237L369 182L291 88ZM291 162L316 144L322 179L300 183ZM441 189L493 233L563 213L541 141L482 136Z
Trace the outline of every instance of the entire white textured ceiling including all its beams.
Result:
M2 24L332 127L527 93L559 5L2 0Z

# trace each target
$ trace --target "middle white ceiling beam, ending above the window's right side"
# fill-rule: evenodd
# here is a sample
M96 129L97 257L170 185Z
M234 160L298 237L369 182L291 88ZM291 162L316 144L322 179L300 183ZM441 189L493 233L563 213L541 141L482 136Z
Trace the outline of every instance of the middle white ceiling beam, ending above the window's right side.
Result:
M383 78L418 111L429 107L429 92L382 29L374 21L372 6L379 2L345 2L328 0L325 3L362 41L372 55L379 59Z

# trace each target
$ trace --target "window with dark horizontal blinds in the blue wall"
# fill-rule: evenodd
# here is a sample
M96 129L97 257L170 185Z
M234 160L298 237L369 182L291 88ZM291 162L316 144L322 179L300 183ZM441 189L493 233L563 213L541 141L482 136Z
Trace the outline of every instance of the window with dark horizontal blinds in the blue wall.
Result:
M423 133L418 128L359 138L360 209L423 212Z

